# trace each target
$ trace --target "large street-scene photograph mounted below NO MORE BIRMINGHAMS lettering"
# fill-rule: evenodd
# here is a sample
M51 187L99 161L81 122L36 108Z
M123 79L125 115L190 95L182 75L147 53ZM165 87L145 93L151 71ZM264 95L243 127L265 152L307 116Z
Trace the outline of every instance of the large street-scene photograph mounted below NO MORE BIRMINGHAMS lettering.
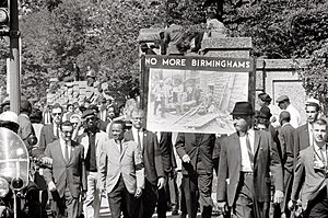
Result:
M248 99L247 72L151 69L149 129L231 134L232 111Z

